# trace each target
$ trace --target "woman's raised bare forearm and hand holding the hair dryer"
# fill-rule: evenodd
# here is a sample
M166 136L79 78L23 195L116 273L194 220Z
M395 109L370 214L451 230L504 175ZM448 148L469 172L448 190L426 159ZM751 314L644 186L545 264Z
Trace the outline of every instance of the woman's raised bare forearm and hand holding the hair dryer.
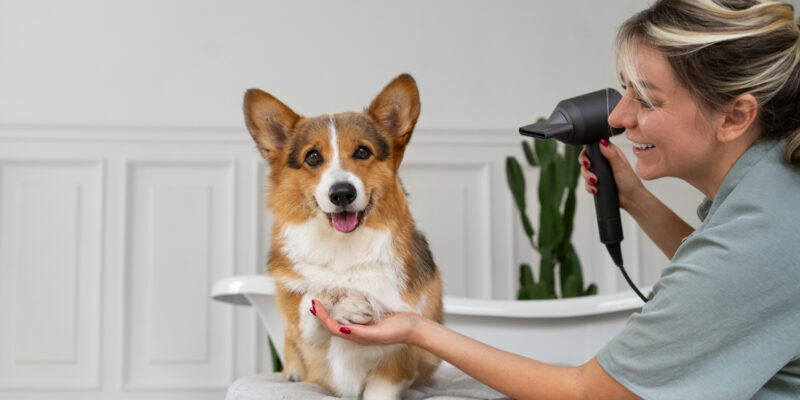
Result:
M608 143L607 146L600 146L600 151L614 171L620 208L627 211L650 240L672 259L681 240L689 236L694 228L644 187L619 147ZM597 194L597 175L588 170L591 162L586 156L586 150L581 152L578 162L581 163L581 176L586 181L586 191Z

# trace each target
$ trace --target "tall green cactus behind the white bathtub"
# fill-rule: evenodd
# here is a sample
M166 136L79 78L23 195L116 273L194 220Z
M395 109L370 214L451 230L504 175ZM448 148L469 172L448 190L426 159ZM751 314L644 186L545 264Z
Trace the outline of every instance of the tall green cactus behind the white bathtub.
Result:
M539 281L536 282L528 264L520 265L520 287L517 299L557 298L555 271L558 269L561 297L597 294L597 286L583 287L581 262L570 238L575 221L578 185L578 154L580 146L564 146L563 154L553 140L535 140L534 149L522 142L525 159L532 167L539 167L539 232L534 241L534 228L528 219L525 204L525 176L514 157L506 158L506 179L514 203L519 209L522 227L534 250L539 252ZM566 192L566 196L565 196Z

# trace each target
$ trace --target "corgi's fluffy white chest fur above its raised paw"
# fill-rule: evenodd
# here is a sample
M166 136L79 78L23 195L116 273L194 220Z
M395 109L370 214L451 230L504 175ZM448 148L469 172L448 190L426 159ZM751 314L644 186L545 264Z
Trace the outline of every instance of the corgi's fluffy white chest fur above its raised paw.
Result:
M303 277L282 280L289 290L314 294L350 289L382 305L382 312L415 311L400 297L406 281L389 231L360 227L333 235L328 220L319 215L287 225L280 240L295 272Z

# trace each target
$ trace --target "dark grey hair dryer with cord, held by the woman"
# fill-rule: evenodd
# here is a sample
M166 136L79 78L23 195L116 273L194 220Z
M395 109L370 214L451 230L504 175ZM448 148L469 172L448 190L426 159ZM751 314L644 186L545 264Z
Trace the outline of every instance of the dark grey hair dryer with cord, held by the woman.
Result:
M600 241L622 271L625 280L636 294L647 299L636 288L622 266L622 221L619 215L617 184L611 164L600 152L600 139L625 131L608 125L608 116L622 99L614 89L602 89L566 100L561 100L546 121L519 128L519 133L536 139L556 139L571 145L586 145L591 160L591 170L597 175L598 192L594 196L597 228Z

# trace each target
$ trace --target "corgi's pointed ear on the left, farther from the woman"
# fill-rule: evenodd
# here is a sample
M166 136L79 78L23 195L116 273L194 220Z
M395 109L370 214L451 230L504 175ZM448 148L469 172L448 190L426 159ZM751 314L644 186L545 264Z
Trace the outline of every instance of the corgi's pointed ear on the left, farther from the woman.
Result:
M245 93L243 108L247 130L264 158L284 148L292 127L300 118L278 99L258 89Z

